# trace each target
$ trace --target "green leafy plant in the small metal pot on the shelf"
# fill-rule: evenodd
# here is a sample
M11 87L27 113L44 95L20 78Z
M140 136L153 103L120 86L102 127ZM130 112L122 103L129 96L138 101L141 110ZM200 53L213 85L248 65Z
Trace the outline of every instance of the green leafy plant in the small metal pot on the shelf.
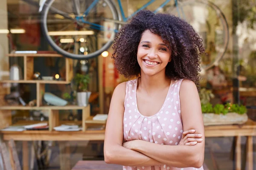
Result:
M83 75L83 74L77 73L76 76L74 77L74 81L77 86L77 91L79 92L87 91L88 84L90 82L90 76L89 74Z

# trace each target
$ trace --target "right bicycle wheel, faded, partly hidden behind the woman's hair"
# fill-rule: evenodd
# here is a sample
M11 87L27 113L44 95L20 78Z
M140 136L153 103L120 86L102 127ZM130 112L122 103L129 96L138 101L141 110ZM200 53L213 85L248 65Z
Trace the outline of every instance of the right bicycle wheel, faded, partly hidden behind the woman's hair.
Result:
M165 12L183 18L200 34L207 55L201 57L201 68L207 70L224 56L229 42L226 17L208 0L179 0L164 8Z

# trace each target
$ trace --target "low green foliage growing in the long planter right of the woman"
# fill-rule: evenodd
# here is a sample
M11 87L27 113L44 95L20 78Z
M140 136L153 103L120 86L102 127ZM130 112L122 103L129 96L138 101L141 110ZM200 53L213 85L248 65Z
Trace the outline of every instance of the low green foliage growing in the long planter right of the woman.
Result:
M212 107L212 104L206 103L201 104L202 113L215 113L215 114L224 114L226 115L229 112L244 114L247 113L247 109L244 105L231 104L227 103L226 105L216 104Z

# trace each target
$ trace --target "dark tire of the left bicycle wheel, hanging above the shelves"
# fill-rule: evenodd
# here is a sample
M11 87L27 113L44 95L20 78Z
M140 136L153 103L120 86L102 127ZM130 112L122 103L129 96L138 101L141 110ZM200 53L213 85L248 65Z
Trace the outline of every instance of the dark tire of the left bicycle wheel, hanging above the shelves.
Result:
M102 48L99 48L97 51L94 51L91 54L72 54L69 53L65 50L63 50L62 48L60 48L55 42L53 42L53 40L51 39L51 37L47 34L48 29L47 29L47 14L49 12L49 8L51 6L51 4L54 2L55 0L47 0L47 2L44 4L42 13L41 13L41 28L43 30L43 34L44 37L46 38L47 42L49 43L49 45L52 47L52 49L54 51L56 51L58 54L63 55L64 57L68 57L71 59L90 59L90 58L94 58L99 56L100 54L102 54L102 52L106 51L108 48L110 48L110 46L113 44L113 40L109 40L108 42L105 43L105 45ZM112 11L112 15L113 15L113 20L119 20L119 15L118 12L116 10L116 6L113 4L113 2L111 0L104 0L106 3L108 3L109 8L111 8ZM116 23L116 29L119 27L119 24ZM116 33L114 33L114 36L116 35Z

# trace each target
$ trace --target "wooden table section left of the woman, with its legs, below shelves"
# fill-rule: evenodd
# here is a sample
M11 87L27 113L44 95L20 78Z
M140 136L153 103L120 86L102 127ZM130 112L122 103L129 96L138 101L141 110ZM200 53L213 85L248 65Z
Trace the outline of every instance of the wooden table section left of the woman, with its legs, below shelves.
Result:
M27 130L23 132L1 131L3 140L22 141L23 170L29 170L28 141L59 141L60 169L70 170L70 144L68 141L103 141L105 130L87 130L76 132L59 132L49 130Z

